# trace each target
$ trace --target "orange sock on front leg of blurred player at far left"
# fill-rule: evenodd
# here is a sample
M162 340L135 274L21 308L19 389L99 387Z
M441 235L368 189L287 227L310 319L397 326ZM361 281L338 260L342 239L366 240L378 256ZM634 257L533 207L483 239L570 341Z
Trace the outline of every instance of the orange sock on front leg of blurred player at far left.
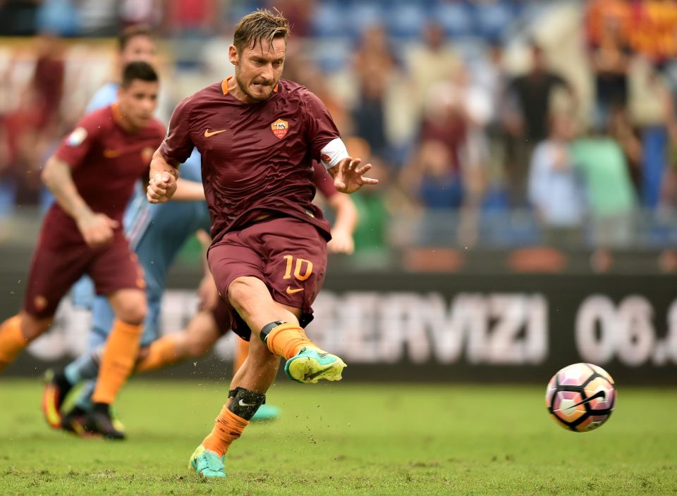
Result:
M142 330L141 324L130 324L116 318L101 356L97 387L92 395L94 403L114 402L134 368Z

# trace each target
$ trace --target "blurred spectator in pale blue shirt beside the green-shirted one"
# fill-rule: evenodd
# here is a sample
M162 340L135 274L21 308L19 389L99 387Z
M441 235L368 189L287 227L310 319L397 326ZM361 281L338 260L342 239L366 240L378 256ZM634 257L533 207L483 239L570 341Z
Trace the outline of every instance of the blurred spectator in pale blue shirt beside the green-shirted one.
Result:
M529 171L529 201L542 226L544 242L558 248L577 248L583 242L585 190L570 152L573 118L550 117L550 135L534 149Z

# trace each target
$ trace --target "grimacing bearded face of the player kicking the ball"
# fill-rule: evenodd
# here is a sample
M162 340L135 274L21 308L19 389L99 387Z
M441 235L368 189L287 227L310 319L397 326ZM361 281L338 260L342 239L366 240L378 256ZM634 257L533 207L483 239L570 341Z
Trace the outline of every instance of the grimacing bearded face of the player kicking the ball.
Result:
M262 39L252 48L248 46L238 54L231 45L228 56L235 66L235 79L243 94L236 95L245 103L269 99L282 75L287 42L284 38L275 38L272 43Z

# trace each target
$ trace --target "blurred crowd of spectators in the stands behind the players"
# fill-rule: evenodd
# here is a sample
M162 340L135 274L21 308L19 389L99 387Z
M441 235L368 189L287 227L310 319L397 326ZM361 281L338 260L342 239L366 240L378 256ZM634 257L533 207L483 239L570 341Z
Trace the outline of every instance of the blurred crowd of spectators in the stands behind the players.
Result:
M0 0L0 216L47 201L44 159L113 77L123 27L157 32L166 121L233 73L257 6L291 21L283 77L382 182L354 195L358 251L674 241L673 0Z

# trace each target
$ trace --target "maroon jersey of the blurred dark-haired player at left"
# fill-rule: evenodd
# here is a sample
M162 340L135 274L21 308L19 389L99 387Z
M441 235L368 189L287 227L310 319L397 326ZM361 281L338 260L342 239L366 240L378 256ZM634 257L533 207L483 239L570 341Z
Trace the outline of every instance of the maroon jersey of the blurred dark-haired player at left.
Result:
M87 114L63 139L54 156L73 169L73 182L85 203L97 213L122 221L136 180L147 176L164 127L152 120L137 132L120 125L117 104ZM54 202L44 226L68 240L82 240L75 220Z

